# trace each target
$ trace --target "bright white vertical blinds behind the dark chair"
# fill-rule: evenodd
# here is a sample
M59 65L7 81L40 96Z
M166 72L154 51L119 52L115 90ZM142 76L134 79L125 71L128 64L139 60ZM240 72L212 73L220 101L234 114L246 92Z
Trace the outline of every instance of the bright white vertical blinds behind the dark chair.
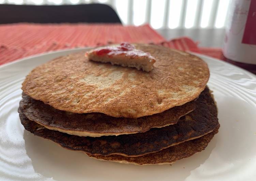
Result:
M125 25L154 29L223 29L230 0L0 0L0 4L63 5L104 3Z

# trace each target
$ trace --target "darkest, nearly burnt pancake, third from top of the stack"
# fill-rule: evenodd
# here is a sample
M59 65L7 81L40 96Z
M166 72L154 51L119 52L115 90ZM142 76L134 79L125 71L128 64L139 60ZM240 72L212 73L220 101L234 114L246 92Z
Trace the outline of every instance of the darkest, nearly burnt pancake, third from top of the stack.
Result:
M119 136L82 137L49 130L30 121L19 109L21 124L31 133L60 146L92 155L120 154L135 157L201 137L213 131L218 123L217 110L209 89L195 101L196 109L180 118L175 125L153 128L145 133Z

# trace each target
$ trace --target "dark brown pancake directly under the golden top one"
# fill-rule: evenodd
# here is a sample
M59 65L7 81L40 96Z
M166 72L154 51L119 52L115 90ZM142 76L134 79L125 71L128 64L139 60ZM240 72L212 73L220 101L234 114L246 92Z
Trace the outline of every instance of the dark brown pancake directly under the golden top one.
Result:
M194 109L195 102L191 101L159 114L131 119L111 117L102 113L78 114L60 111L25 94L22 94L20 101L22 113L47 129L91 137L146 132L151 128L173 125L181 116Z

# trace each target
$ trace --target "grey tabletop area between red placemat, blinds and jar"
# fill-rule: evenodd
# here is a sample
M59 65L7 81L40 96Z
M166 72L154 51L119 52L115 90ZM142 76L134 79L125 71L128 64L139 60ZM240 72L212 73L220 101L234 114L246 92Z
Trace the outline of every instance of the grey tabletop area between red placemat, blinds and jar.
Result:
M199 47L221 48L225 29L159 29L156 30L165 39L187 36L198 42Z

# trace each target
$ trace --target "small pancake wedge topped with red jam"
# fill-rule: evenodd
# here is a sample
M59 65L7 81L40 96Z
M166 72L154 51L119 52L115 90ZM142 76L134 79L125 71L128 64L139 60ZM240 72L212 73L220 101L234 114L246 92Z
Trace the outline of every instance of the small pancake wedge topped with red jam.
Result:
M86 53L89 60L123 67L135 67L138 70L151 71L155 58L150 53L136 49L129 43L121 43L119 46L97 48Z

